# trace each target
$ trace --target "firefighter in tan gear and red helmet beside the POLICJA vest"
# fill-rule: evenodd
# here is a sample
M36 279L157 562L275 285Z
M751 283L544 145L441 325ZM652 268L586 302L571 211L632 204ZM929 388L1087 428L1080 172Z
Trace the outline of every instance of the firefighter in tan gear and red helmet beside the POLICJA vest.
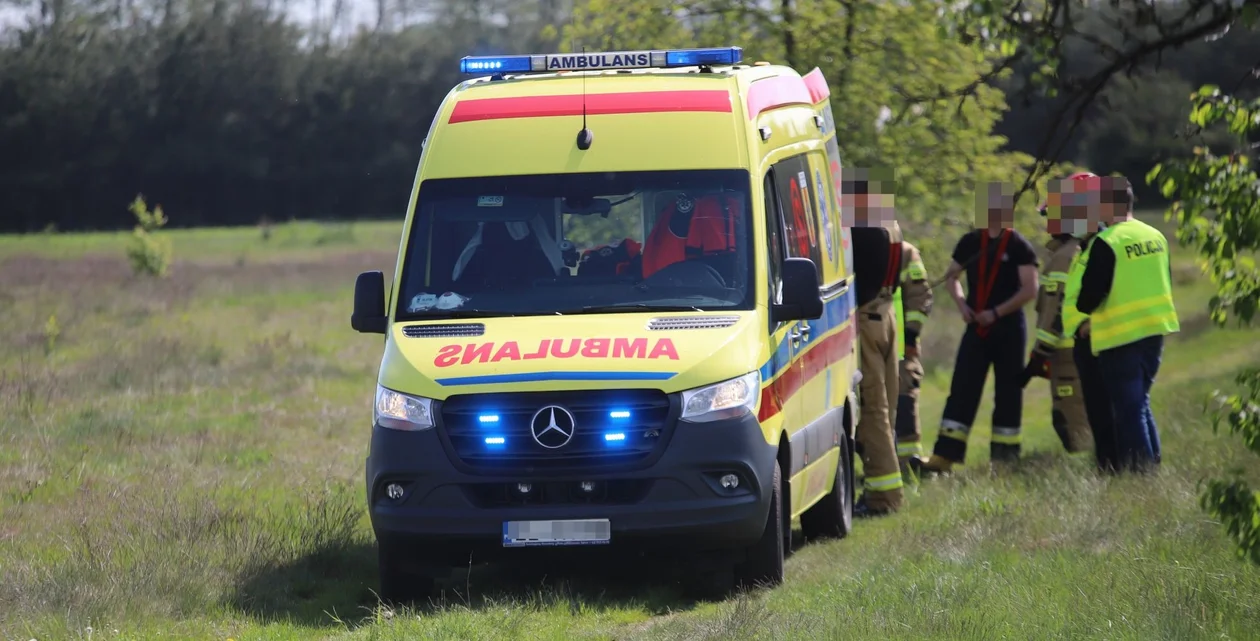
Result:
M1051 198L1040 208L1042 215L1050 209L1046 220L1046 229L1051 234L1046 243L1050 258L1041 275L1037 340L1024 370L1023 384L1027 385L1032 377L1050 379L1051 426L1063 448L1072 453L1090 451L1092 436L1072 358L1076 326L1084 317L1079 312L1063 314L1063 290L1072 261L1081 251L1081 239L1090 233L1085 214L1087 198L1091 193L1096 194L1099 186L1099 176L1094 174L1072 174L1052 188Z

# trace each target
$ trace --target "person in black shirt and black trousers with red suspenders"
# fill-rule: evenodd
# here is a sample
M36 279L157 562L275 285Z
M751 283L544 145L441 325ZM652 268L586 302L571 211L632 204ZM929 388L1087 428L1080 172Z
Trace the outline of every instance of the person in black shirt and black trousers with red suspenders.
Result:
M921 465L927 472L946 472L966 458L968 434L990 366L994 374L990 457L994 461L1019 458L1021 380L1027 345L1023 307L1037 296L1040 261L1032 243L1012 229L1013 198L993 188L988 195L984 225L959 239L945 273L966 330L958 346L940 434L931 458ZM958 282L964 271L965 295Z

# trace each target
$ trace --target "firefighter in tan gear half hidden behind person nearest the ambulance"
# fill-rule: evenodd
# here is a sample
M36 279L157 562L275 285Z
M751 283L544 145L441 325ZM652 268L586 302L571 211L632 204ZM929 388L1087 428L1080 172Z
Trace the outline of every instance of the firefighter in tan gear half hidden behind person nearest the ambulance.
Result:
M900 321L897 332L898 390L895 432L897 458L901 471L908 470L910 460L924 453L919 427L919 387L924 382L924 365L919 360L919 335L932 312L932 288L927 283L927 269L919 256L919 248L901 242L901 287L893 295Z

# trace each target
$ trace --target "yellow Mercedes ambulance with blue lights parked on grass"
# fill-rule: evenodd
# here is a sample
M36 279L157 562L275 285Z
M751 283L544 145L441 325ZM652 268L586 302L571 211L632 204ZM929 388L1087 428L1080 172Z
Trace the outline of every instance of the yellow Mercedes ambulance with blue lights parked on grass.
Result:
M857 345L822 72L737 47L479 57L423 142L367 496L388 599L470 558L776 584L852 524ZM564 548L561 548L564 547ZM542 553L544 550L533 550Z

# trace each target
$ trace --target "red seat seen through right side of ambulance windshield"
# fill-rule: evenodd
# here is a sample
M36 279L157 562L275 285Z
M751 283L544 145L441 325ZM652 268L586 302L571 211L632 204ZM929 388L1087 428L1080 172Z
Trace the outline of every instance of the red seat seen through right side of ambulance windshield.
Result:
M692 199L679 194L665 205L643 247L643 277L670 264L735 251L738 203L724 194Z

